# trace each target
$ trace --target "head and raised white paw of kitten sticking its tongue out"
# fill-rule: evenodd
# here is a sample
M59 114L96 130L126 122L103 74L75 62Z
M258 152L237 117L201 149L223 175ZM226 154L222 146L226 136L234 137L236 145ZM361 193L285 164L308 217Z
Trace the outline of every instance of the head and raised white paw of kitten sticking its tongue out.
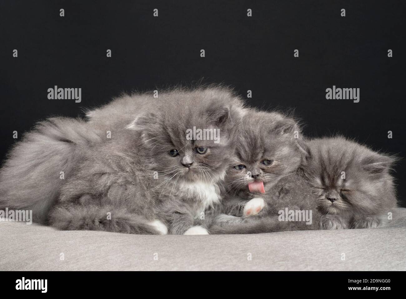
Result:
M225 178L228 190L220 213L253 216L266 206L266 192L294 173L304 155L300 127L279 113L248 111L237 131L233 163Z

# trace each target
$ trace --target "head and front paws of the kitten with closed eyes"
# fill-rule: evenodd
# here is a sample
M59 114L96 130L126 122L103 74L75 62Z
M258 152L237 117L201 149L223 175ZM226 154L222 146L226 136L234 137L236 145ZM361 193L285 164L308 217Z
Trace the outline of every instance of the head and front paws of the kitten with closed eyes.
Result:
M322 229L370 228L396 207L390 170L396 158L344 137L307 142L304 175L322 214Z

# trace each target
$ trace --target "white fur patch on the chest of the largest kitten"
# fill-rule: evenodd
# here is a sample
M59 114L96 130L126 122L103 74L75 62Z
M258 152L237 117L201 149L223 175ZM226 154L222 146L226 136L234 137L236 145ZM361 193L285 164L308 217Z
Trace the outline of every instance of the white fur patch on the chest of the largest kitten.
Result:
M201 203L203 203L203 210L220 201L218 187L214 184L203 182L183 183L181 188L187 191L191 196L196 197L198 201L201 201Z

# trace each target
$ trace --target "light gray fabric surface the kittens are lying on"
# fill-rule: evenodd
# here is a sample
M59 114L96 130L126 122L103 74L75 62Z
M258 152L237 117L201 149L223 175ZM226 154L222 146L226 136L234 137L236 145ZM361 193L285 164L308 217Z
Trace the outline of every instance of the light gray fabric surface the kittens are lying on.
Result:
M404 223L398 219L379 229L139 236L0 222L0 270L404 271Z

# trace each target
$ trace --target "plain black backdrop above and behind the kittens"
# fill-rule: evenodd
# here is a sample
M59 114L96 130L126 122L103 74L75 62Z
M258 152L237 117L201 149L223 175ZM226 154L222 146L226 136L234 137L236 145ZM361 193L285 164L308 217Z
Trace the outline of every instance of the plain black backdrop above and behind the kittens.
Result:
M342 133L404 157L405 12L402 1L1 0L1 155L37 120L203 78L252 90L253 106L295 108L309 136ZM49 100L54 85L82 88L82 102ZM333 85L360 88L360 102L326 100Z

